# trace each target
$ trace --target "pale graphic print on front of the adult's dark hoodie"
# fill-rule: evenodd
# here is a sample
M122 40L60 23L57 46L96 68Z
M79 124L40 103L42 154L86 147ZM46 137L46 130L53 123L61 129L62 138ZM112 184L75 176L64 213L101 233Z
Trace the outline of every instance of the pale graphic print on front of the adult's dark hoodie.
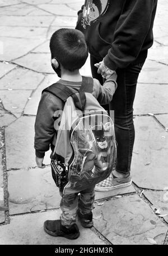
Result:
M100 16L104 15L109 6L109 0L85 0L83 7L82 26L86 29L91 21L96 21Z

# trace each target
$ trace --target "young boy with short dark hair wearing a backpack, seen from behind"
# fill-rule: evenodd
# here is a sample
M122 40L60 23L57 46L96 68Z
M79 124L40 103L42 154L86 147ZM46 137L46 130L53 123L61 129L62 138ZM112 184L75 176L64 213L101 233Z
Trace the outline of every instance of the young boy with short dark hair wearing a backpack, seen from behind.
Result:
M85 64L88 56L87 44L82 32L75 29L57 30L50 39L50 51L52 67L61 78L59 83L71 88L74 92L78 92L82 83L79 69ZM108 104L113 98L115 89L116 73L114 72L106 77L103 86L97 79L94 79L92 95L101 104ZM57 138L57 131L54 128L54 113L63 110L63 107L62 100L52 93L44 92L42 94L35 121L35 154L39 168L45 167L43 159L49 147L51 147L52 152L54 151ZM77 213L83 227L93 226L94 187L79 191L80 196L78 193L64 195L63 187L60 187L59 191L62 196L60 202L62 214L60 219L45 221L44 230L52 236L76 239L80 235L76 224Z

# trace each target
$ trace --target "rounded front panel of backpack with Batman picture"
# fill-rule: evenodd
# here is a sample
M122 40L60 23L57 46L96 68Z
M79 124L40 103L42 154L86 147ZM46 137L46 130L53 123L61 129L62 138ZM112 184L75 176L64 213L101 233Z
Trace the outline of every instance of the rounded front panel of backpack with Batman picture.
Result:
M100 177L106 178L114 165L114 124L108 115L92 114L81 118L72 128L74 159L69 181L77 185L89 180L90 185L94 185Z

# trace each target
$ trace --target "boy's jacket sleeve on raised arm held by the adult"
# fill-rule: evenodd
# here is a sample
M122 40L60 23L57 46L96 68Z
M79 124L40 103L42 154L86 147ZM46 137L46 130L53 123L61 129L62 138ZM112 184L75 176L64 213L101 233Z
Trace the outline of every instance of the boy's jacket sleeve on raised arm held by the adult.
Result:
M94 90L93 95L97 98L100 104L109 104L113 99L113 95L117 88L116 73L113 73L108 79L105 80L103 86L101 86L99 80L94 78Z

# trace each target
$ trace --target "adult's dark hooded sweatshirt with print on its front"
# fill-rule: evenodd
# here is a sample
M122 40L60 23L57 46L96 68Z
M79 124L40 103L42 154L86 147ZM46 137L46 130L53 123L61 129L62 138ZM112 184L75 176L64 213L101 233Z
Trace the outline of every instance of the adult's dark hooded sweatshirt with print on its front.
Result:
M105 65L112 70L143 62L153 44L152 28L157 0L97 2L109 2L105 14L83 29L82 6L76 26L85 34L90 54L98 61L104 58Z

